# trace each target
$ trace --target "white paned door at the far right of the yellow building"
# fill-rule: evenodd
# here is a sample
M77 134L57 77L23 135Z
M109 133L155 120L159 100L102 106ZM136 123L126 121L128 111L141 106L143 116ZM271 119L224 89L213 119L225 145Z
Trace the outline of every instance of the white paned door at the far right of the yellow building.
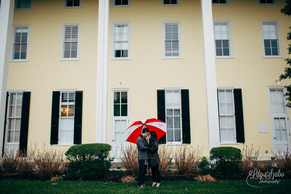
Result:
M278 154L290 150L290 120L289 110L285 106L285 91L283 88L269 89L269 108L273 152Z

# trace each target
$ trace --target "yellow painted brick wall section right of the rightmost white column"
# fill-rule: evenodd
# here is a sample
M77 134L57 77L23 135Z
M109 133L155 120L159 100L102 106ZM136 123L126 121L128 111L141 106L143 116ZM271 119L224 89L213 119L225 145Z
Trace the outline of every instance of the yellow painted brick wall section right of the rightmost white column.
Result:
M275 79L287 67L286 40L290 18L280 13L278 5L258 6L257 0L230 1L230 6L212 6L213 20L230 20L233 56L216 59L217 86L242 88L245 145L259 148L260 154L271 154L272 136L267 86L289 85L290 79L277 84ZM279 20L284 58L263 58L261 20ZM243 26L243 27L242 27ZM258 133L258 123L267 123L267 133ZM244 144L221 145L242 149Z

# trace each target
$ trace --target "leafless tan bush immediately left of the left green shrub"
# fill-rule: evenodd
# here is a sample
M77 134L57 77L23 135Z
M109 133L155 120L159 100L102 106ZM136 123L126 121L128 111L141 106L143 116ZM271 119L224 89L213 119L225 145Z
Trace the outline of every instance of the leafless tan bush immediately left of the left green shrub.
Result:
M62 175L67 170L67 158L64 157L65 151L45 148L37 150L33 160L36 164L36 173L43 179Z

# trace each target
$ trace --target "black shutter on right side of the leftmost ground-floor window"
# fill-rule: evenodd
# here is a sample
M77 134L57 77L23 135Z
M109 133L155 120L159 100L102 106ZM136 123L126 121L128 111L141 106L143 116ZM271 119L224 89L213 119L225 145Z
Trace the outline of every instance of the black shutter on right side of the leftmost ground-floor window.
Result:
M29 107L30 107L30 92L23 92L22 109L21 109L21 123L20 123L19 151L22 154L24 154L24 156L26 156L26 151L27 151Z

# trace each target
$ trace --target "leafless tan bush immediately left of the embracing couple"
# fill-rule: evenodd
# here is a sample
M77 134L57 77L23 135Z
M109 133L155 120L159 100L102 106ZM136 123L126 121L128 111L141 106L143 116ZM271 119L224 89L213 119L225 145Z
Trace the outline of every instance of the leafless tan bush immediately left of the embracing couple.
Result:
M121 153L120 164L129 172L129 174L135 175L139 171L136 145L131 145L126 149L121 149Z

